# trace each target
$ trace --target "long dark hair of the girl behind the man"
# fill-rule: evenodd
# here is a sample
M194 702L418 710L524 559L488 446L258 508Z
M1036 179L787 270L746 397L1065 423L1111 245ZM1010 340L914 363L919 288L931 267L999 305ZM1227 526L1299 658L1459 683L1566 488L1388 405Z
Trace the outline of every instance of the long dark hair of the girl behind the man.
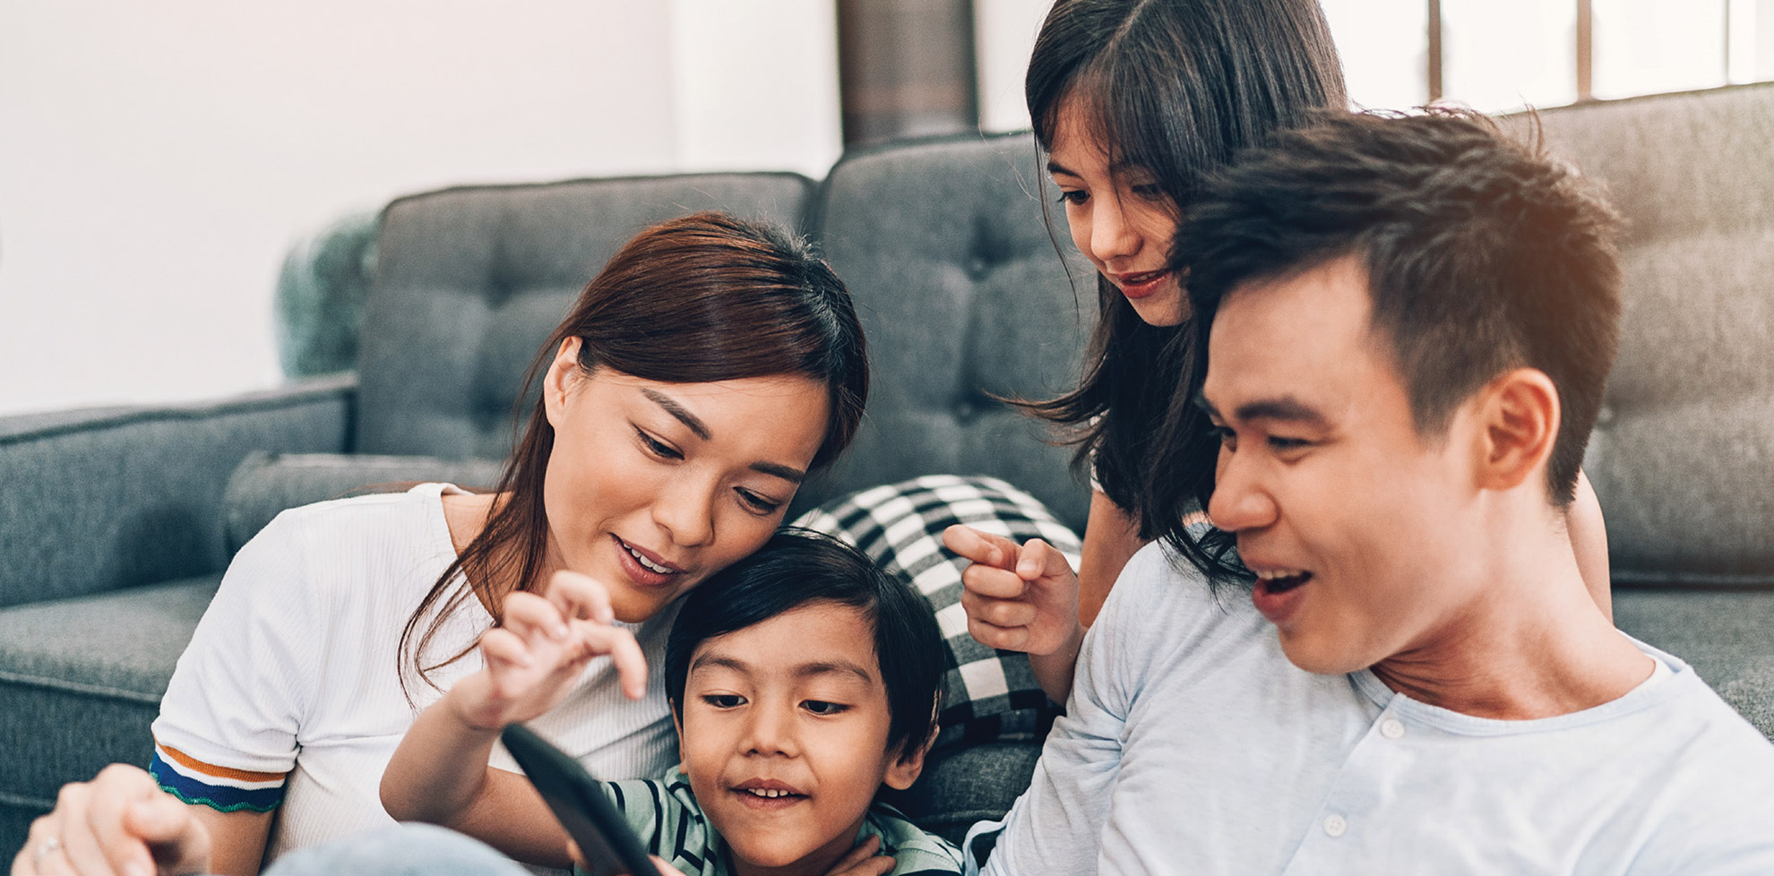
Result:
M1070 101L1111 161L1150 172L1178 216L1240 149L1348 105L1316 0L1057 0L1025 94L1041 151ZM1077 429L1075 465L1095 463L1103 495L1153 539L1174 521L1151 502L1148 456L1185 378L1189 326L1146 325L1100 275L1096 296L1079 388L1025 410Z

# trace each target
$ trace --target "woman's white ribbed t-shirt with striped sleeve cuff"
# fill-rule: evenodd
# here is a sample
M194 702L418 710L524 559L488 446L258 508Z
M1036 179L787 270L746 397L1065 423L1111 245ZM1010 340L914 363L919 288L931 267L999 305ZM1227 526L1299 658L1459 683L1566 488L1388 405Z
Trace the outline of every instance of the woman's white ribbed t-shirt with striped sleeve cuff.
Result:
M454 491L420 484L291 509L241 548L154 722L163 787L220 810L275 807L266 860L392 825L381 773L419 709L442 695L417 679L403 692L401 630L456 557L442 505ZM630 624L649 667L663 663L674 614ZM467 598L428 658L461 651L488 626ZM433 681L449 688L481 667L472 651ZM660 674L630 700L608 658L532 727L603 778L656 777L678 757ZM504 750L493 766L516 770Z

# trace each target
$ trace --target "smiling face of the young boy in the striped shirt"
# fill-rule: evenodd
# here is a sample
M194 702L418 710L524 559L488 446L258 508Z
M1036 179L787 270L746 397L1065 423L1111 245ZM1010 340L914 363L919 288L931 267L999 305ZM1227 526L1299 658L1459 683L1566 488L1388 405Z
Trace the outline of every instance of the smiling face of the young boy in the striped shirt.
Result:
M887 688L862 612L809 603L695 649L678 725L695 800L736 858L825 872L855 844L882 782L921 754L887 750Z

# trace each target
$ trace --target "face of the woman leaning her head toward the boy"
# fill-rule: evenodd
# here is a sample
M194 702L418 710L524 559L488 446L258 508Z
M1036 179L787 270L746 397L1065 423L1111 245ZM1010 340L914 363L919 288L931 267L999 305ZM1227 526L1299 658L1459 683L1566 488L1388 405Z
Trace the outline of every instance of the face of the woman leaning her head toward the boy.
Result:
M788 374L585 374L578 348L561 344L543 383L555 431L543 486L548 567L591 575L619 621L644 621L782 523L825 440L827 388Z

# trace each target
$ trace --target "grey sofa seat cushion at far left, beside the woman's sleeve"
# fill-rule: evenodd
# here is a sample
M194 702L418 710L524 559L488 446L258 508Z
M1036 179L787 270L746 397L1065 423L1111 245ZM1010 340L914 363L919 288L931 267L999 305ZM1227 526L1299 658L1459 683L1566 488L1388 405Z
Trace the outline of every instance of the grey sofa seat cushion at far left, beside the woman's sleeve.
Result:
M220 575L0 608L0 853L64 782L147 766L149 723Z

